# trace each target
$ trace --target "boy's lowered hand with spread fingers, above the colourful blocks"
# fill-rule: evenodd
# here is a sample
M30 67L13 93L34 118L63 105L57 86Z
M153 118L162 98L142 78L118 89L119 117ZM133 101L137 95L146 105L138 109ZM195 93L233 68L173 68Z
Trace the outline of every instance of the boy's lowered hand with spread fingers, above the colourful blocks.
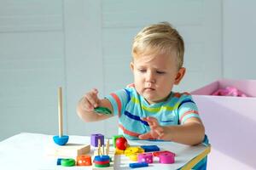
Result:
M138 136L139 139L165 139L165 128L160 126L157 119L151 116L144 117L143 121L148 122L150 132Z

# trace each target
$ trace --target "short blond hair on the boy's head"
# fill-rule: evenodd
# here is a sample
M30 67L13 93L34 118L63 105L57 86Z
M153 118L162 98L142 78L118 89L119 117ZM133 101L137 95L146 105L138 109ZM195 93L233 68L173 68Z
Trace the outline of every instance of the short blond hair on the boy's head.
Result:
M177 69L183 66L184 42L176 29L168 22L143 28L132 43L134 58L145 54L173 54L177 56Z

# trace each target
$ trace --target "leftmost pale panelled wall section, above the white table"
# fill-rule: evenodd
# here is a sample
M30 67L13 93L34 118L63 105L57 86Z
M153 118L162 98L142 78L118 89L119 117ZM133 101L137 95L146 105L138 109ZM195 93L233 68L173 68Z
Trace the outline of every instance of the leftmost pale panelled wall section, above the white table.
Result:
M63 42L61 1L0 1L0 139L57 130Z

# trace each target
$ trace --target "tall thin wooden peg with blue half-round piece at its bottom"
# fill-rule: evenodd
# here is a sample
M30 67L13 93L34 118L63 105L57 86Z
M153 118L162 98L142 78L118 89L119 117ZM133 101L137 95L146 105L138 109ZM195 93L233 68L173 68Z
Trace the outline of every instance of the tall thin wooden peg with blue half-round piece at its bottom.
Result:
M65 145L68 141L68 136L63 136L63 123L62 123L62 88L58 89L58 117L59 117L59 135L54 136L55 144Z

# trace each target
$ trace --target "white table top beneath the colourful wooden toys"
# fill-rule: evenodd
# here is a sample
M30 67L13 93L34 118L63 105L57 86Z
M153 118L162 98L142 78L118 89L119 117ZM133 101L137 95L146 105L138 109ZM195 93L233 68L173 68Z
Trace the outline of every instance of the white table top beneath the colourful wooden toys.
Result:
M54 144L53 135L41 133L19 133L9 139L0 142L0 166L1 169L67 169L56 165L56 157L49 156L47 150ZM69 136L70 144L90 144L89 136ZM129 140L130 145L154 144L160 147L160 150L170 150L176 154L175 163L160 164L158 161L149 164L147 169L178 169L202 153L206 152L207 146L198 144L189 146L166 141L148 141L148 140ZM93 155L95 147L91 146L90 155ZM130 169L129 158L125 156L115 156L115 169ZM68 169L91 169L91 167L68 167ZM143 167L144 168L144 167Z

